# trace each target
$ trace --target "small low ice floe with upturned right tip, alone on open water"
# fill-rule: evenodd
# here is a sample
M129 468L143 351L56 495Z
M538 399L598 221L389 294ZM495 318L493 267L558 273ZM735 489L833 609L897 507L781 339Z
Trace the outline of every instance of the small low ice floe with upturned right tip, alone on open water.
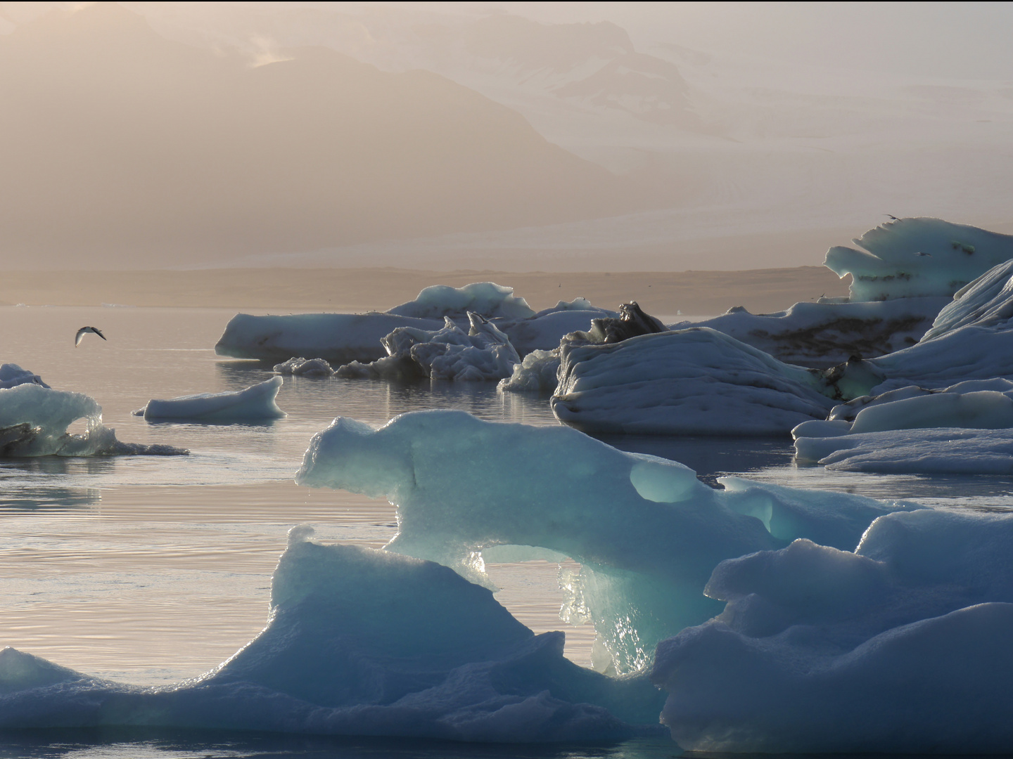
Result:
M167 401L148 401L134 415L148 420L191 419L207 422L279 419L285 416L285 412L278 408L275 399L283 382L282 377L272 376L240 391L200 393Z

